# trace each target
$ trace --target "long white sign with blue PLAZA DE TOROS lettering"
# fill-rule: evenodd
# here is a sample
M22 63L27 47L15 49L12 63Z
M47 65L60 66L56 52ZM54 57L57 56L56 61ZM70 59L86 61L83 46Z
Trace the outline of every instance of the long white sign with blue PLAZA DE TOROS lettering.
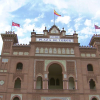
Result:
M36 38L38 42L73 42L73 39L59 39L59 38Z

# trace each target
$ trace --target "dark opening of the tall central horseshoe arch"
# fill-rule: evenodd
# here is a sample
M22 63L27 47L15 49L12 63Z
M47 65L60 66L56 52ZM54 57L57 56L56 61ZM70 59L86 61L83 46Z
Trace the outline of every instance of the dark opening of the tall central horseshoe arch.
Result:
M59 64L53 63L49 66L48 74L48 88L49 89L63 89L62 68Z

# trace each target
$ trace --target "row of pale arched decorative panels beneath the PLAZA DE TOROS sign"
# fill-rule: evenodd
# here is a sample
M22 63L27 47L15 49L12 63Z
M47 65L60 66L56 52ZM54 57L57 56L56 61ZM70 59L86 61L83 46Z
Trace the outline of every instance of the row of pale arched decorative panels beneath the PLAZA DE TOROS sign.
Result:
M43 48L37 47L36 53L43 53L43 54L74 54L74 48Z

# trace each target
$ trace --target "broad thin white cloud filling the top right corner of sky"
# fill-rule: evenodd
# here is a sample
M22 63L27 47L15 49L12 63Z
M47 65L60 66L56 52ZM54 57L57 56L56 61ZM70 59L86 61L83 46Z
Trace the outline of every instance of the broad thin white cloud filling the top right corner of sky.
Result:
M100 0L43 0L44 4L51 4L56 9L66 9L66 12L72 13L87 13L99 15ZM65 13L65 12L64 12Z

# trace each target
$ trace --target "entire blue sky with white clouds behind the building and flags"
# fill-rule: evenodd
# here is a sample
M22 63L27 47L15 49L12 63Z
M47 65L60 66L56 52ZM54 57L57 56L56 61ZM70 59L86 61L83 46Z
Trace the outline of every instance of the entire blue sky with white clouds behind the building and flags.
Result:
M56 26L69 35L75 30L81 46L87 46L93 34L100 34L94 28L94 24L100 26L100 0L0 0L0 33L11 31L13 20L20 24L20 28L12 27L19 44L29 44L33 29L43 34L45 26L49 30L54 25L54 9L61 15L55 16Z

